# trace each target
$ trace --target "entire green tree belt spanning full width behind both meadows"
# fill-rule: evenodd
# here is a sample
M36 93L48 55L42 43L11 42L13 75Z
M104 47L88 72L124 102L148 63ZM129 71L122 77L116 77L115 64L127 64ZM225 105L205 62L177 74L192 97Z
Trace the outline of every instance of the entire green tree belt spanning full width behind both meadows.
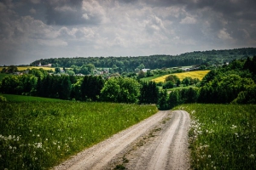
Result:
M24 94L56 99L156 104L168 110L183 103L255 104L256 56L234 59L230 64L213 69L198 82L189 77L180 81L171 75L165 84L179 86L194 83L190 88L160 90L155 82L141 82L131 77L54 76L44 70L32 70L21 76L4 77L3 94ZM189 85L189 84L188 84ZM168 88L169 89L169 88Z

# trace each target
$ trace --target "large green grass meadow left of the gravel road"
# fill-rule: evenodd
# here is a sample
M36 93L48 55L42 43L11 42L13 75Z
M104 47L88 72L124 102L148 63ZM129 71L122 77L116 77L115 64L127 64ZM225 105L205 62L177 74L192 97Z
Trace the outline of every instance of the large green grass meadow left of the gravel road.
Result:
M0 169L48 169L152 116L154 105L0 103Z

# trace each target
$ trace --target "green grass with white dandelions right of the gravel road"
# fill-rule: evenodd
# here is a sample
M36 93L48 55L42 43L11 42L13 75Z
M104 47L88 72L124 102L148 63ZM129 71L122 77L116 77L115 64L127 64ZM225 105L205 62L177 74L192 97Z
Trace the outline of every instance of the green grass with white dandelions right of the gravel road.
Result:
M193 169L255 169L256 105L181 105L190 113Z

